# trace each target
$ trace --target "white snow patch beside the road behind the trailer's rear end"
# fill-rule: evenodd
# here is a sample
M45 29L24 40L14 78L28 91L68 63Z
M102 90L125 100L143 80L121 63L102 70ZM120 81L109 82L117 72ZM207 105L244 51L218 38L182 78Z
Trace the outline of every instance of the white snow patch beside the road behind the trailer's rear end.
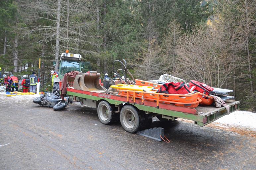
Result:
M248 128L248 130L256 131L256 114L248 111L235 111L226 115L214 123L220 123L220 126L234 126Z

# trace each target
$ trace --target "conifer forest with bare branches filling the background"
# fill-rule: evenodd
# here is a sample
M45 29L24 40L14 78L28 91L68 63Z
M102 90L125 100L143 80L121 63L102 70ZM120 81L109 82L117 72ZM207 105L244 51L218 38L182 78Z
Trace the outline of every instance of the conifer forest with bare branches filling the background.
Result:
M66 49L103 77L125 59L141 80L170 74L232 89L256 106L255 0L1 0L0 67L51 90ZM53 65L53 62L56 65ZM50 88L50 89L48 89Z

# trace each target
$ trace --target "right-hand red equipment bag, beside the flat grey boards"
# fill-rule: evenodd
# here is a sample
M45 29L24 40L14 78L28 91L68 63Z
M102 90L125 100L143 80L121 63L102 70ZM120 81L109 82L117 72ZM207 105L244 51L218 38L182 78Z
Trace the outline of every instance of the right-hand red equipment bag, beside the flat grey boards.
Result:
M200 83L195 80L191 80L188 85L189 85L190 91L199 91L200 93L203 93L206 95L209 95L213 91L213 88L210 87L209 85Z

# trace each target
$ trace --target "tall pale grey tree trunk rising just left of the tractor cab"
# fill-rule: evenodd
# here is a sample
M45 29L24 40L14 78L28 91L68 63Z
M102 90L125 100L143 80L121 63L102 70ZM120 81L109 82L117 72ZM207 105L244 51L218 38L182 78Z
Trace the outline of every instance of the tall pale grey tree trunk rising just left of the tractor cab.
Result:
M58 0L58 10L57 10L57 25L56 25L56 51L55 51L55 70L58 70L59 67L59 50L60 50L60 0Z

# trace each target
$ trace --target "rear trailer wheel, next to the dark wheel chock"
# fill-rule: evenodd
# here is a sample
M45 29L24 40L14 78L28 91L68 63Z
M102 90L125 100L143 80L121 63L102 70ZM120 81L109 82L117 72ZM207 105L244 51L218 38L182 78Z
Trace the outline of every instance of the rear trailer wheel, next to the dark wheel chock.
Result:
M120 112L120 122L125 131L135 133L142 130L145 117L131 105L125 105Z

